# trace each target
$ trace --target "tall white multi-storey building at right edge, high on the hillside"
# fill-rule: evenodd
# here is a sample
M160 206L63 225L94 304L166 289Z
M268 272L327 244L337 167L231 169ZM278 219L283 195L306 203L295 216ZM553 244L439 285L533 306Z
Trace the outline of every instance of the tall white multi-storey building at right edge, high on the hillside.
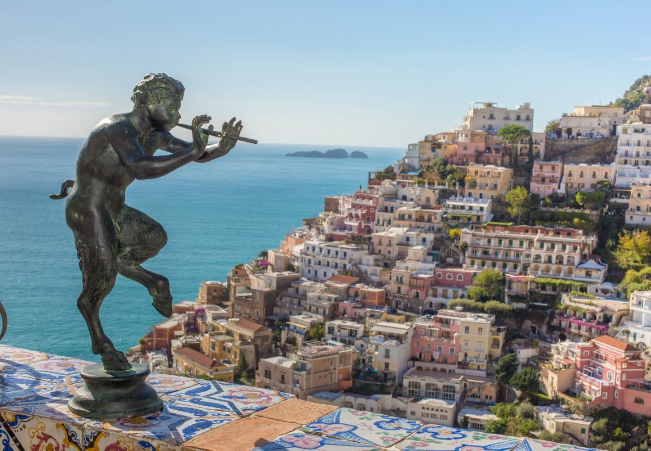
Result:
M651 124L634 123L618 127L615 157L615 186L651 182Z

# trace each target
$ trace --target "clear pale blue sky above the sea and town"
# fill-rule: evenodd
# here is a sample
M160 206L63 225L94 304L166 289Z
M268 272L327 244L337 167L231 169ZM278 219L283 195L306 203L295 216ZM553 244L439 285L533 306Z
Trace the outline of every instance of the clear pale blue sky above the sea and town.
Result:
M531 102L534 129L651 73L644 1L0 0L0 135L87 136L148 72L184 122L270 143L404 147L469 102ZM178 132L180 136L184 132Z

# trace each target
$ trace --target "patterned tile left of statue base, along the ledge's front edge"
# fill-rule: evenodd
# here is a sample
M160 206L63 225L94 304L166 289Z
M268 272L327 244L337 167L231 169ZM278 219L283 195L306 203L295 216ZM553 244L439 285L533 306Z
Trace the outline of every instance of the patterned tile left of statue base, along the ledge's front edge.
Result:
M70 422L74 424L85 424L90 420L75 415L68 409L68 401L72 394L68 391L51 390L40 395L32 396L25 400L16 401L3 407L3 411L40 416L49 418L55 422Z

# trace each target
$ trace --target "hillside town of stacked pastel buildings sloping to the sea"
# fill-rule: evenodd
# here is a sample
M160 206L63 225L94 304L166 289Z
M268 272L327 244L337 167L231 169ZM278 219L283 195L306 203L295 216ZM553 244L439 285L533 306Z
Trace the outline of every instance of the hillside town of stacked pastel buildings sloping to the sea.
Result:
M277 248L202 282L133 360L442 426L648 449L651 105L533 120L529 103L471 104ZM596 145L612 158L568 158Z

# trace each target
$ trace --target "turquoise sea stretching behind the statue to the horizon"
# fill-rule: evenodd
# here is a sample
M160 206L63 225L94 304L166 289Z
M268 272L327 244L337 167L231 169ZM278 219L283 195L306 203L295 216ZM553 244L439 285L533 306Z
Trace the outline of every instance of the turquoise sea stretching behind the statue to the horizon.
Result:
M98 361L76 307L81 272L64 201L48 198L74 178L82 143L0 137L0 302L9 316L3 343ZM335 147L369 158L284 156ZM144 266L169 278L175 302L193 300L202 280L225 280L233 265L278 247L286 231L322 211L324 196L353 192L368 171L403 155L402 149L240 143L214 162L135 181L127 203L158 220L169 236ZM145 287L118 276L102 306L104 328L118 349L137 344L163 319L150 302Z

